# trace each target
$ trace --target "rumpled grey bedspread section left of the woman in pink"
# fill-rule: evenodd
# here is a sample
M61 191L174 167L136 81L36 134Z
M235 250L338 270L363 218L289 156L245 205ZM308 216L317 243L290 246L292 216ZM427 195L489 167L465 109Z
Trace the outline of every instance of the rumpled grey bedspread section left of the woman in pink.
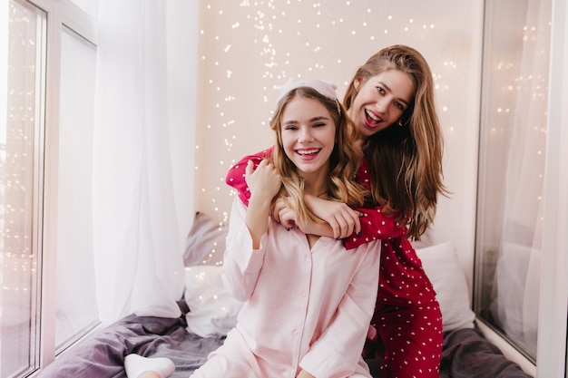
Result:
M185 330L177 319L129 315L73 347L39 378L126 378L123 361L128 354L168 357L176 365L172 378L187 378L222 344L220 338L201 338Z

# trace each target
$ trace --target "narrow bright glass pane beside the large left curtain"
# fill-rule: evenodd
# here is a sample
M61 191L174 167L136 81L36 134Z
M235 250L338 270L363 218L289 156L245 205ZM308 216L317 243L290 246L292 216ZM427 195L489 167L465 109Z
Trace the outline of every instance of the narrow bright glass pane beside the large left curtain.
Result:
M66 28L61 45L55 320L58 351L98 324L93 259L96 49Z

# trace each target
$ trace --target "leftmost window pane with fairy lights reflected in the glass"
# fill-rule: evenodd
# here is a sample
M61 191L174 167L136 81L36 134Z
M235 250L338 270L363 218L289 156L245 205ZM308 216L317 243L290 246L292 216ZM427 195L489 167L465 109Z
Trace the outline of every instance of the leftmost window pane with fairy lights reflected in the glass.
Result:
M0 123L0 375L37 365L41 277L44 11L10 1L5 119Z

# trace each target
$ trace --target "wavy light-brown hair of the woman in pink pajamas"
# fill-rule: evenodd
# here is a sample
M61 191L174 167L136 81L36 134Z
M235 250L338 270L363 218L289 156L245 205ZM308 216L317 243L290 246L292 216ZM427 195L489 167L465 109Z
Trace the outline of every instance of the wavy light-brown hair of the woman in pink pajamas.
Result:
M298 209L299 219L321 221L306 206L304 202L304 179L298 174L298 169L289 160L282 146L281 118L284 108L295 97L313 99L321 102L336 125L335 146L329 157L328 192L326 199L347 203L349 206L361 207L366 200L367 190L355 181L357 167L363 155L354 147L357 131L348 119L343 106L336 100L320 94L311 87L299 87L282 97L277 109L270 120L270 128L276 133L276 143L271 160L282 179L282 188L276 198L291 198L293 208Z

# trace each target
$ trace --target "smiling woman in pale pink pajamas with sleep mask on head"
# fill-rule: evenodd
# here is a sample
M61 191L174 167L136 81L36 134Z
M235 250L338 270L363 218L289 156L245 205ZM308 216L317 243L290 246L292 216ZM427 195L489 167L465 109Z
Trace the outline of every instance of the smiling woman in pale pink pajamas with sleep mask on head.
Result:
M370 377L360 354L373 314L379 241L350 253L340 240L270 218L274 198L297 208L309 228L308 194L351 206L367 190L352 181L362 156L334 88L318 80L288 82L270 121L272 154L245 178L248 207L235 199L223 279L244 302L237 325L192 378ZM358 157L358 158L357 158Z

